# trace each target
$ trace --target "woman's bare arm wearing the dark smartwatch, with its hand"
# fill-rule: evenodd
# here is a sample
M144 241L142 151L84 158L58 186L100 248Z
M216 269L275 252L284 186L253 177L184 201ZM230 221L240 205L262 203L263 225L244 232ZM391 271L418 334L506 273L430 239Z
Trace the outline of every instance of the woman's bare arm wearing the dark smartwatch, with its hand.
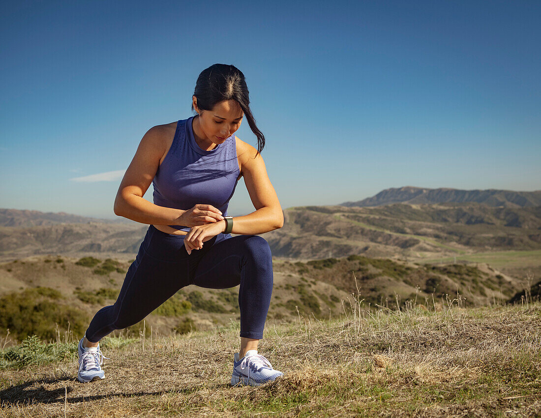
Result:
M242 142L241 142L242 143ZM242 143L241 169L250 199L256 209L244 216L233 217L232 234L258 235L283 226L282 207L276 191L269 180L265 162L261 154L247 143ZM226 221L218 221L207 225L198 225L190 229L184 237L184 246L188 254L194 249L203 248L203 242L220 234L226 229Z

